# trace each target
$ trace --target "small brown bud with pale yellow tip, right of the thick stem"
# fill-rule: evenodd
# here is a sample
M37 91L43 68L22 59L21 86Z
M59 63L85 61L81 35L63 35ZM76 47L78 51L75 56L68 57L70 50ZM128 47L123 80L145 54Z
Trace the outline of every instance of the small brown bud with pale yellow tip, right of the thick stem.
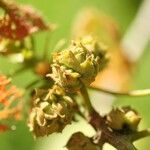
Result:
M108 125L118 131L137 131L140 120L139 114L130 107L113 109L107 115Z

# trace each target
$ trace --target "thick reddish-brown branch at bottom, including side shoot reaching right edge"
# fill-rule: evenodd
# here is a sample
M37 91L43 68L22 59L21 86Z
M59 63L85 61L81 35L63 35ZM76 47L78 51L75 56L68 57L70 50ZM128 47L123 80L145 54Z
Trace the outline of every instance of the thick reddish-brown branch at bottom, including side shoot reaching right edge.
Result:
M103 146L104 143L109 143L118 150L136 150L133 142L150 136L149 130L136 131L133 134L123 134L113 131L106 123L104 117L97 112L90 115L89 123L98 131L97 144Z

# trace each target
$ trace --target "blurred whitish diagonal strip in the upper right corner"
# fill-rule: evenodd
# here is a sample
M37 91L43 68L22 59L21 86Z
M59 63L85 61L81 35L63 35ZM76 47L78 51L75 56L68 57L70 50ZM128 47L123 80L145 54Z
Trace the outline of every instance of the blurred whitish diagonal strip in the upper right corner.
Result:
M123 53L131 62L136 62L150 42L150 0L144 0L122 40Z

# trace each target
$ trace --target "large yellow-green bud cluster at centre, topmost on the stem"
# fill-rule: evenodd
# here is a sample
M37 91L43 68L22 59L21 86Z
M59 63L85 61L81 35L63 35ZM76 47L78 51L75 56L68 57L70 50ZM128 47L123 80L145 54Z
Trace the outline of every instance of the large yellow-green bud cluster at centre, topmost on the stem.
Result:
M104 46L87 36L54 54L52 74L48 76L65 90L77 91L82 83L90 85L106 64Z

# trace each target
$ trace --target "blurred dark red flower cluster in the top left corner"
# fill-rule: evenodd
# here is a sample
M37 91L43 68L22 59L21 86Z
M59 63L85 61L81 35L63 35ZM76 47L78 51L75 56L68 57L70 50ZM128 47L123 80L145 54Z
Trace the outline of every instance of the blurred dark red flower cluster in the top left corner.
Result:
M12 40L20 40L39 30L47 30L49 26L31 6L19 6L2 0L0 4L5 11L0 20L0 35Z

